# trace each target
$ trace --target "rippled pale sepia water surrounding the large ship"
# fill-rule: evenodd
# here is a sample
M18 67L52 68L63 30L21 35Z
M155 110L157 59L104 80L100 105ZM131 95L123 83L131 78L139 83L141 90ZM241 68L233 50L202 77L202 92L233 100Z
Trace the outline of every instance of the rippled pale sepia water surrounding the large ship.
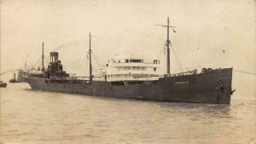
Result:
M230 105L211 105L42 93L12 84L1 89L0 137L3 143L253 143L256 101L237 94Z

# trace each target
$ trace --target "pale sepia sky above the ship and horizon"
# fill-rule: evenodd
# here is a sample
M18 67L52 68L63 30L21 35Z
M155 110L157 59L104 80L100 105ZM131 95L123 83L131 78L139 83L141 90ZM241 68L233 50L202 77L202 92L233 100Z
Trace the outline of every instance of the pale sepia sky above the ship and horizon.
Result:
M180 66L256 73L255 8L253 0L2 0L1 72L35 65L44 42L46 59L58 51L67 72L88 75L89 32L94 70L114 55L138 55L160 59L166 72L166 29L156 25L169 16L177 31L172 73Z

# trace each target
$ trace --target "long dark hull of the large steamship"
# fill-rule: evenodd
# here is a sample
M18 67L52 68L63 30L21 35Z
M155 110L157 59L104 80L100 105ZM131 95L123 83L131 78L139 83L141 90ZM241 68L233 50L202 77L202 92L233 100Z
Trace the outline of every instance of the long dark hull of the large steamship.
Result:
M140 84L73 81L50 81L46 78L26 77L32 89L62 93L106 96L144 101L170 101L230 104L232 68L212 72L159 78Z

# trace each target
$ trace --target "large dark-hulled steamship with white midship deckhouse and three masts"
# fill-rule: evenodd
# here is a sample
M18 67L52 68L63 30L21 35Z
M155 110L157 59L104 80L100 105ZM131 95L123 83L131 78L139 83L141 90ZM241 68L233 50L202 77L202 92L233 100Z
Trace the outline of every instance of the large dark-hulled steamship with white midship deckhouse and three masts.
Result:
M28 73L26 82L32 89L107 96L145 101L172 101L230 104L232 94L232 68L197 70L170 74L169 19L167 20L166 74L158 74L159 60L145 62L135 57L115 57L108 60L99 75L92 75L91 49L90 77L71 77L63 71L57 52L50 53L50 62L44 69L44 43L42 71ZM91 36L90 36L91 37Z

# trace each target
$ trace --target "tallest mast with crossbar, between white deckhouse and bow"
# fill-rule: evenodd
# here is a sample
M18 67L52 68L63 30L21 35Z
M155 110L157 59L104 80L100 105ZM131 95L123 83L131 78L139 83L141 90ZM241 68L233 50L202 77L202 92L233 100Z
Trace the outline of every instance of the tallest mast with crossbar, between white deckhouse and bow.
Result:
M166 56L166 73L167 74L170 74L170 45L172 46L172 43L170 41L170 37L169 37L169 27L172 27L172 30L173 30L173 27L175 26L169 26L169 16L167 18L167 26L166 25L158 25L158 26L163 26L163 27L167 27L167 40L166 40L166 46L167 46L167 56ZM175 32L173 30L173 32Z

